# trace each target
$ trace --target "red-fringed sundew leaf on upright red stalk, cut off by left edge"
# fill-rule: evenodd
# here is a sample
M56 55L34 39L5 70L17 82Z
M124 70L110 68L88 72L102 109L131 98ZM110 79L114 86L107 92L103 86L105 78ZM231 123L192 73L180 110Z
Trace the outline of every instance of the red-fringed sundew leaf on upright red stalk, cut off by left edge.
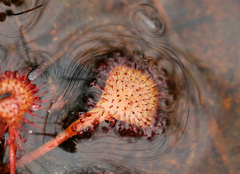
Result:
M31 109L40 108L41 105L39 105L39 103L44 102L40 100L40 96L43 94L38 94L40 86L37 87L29 81L27 76L28 73L23 75L18 71L0 72L0 121L1 127L4 125L3 130L0 131L0 137L2 137L3 133L8 129L9 138L7 145L9 146L10 174L14 174L16 169L16 140L20 149L24 151L21 141L25 142L26 140L21 137L18 129L26 130L21 126L21 123L26 122L39 128L25 119L24 114L27 112L32 116L40 117L35 115ZM1 170L0 167L0 171ZM3 173L3 171L1 172Z

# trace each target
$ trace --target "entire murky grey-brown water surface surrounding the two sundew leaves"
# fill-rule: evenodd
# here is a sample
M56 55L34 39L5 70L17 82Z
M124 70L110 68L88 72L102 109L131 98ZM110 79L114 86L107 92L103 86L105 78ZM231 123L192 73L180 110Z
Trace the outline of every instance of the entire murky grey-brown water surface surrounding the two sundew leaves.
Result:
M151 140L96 130L69 139L19 172L237 173L237 0L224 7L221 0L31 0L11 7L1 3L0 10L18 13L41 4L0 23L2 71L8 64L12 70L31 67L29 78L36 78L36 84L47 82L42 99L54 99L43 104L51 112L36 112L45 119L26 115L44 131L24 125L32 131L22 132L27 139L24 154L62 132L77 119L76 113L91 109L84 100L90 95L88 84L95 78L95 66L112 52L151 57L145 66L164 69L176 92L175 114L166 120L168 128ZM7 163L7 153L2 161Z

